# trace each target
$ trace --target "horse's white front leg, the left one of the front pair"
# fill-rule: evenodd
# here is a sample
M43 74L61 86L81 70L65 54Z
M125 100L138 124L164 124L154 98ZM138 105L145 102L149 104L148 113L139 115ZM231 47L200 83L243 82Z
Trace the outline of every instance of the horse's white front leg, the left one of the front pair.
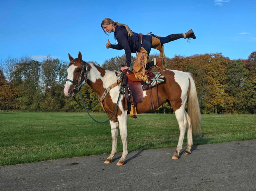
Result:
M116 145L117 145L117 136L118 136L118 122L117 121L110 121L110 126L111 126L111 137L112 137L112 150L107 158L105 160L105 164L109 164L112 162L113 157L116 154Z

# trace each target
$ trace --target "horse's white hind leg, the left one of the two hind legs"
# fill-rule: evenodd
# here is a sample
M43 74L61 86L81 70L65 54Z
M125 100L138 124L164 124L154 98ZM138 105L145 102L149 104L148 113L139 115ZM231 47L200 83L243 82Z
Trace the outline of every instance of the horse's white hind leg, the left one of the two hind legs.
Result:
M186 121L186 117L184 116L185 115L184 111L185 110L182 109L182 106L175 111L175 116L179 125L179 141L178 141L176 151L172 156L172 159L179 159L180 157L179 152L182 149L182 143L183 143L184 135L186 132L186 126L187 126L187 121Z

